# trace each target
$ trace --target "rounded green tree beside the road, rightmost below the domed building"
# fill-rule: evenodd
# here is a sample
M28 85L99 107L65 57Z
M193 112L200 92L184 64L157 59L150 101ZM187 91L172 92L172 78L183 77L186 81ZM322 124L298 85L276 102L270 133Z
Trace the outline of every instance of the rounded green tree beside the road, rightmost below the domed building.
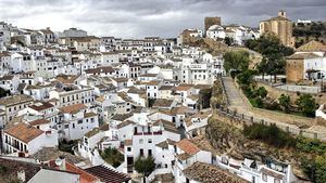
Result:
M301 109L302 114L308 117L315 116L315 109L317 108L315 99L311 94L302 94L296 101L297 105Z

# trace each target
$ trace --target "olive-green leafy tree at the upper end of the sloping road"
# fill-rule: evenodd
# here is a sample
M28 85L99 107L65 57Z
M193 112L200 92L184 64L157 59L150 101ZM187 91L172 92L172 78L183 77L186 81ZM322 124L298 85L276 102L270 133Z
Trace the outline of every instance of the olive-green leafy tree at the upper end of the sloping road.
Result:
M247 51L226 52L223 56L226 73L231 70L244 71L249 67L249 53Z

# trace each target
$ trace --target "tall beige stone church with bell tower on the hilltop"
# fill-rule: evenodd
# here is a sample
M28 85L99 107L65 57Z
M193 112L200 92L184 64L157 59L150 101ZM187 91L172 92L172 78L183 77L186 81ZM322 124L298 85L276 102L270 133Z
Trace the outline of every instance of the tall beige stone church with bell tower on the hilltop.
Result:
M273 34L287 47L294 47L292 37L292 22L287 18L285 11L279 11L278 16L260 23L260 34Z

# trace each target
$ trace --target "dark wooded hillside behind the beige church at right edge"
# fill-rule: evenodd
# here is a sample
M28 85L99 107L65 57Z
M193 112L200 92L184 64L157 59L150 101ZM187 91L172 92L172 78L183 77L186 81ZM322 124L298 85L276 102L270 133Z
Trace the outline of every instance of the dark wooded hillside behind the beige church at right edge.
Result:
M296 48L311 40L326 43L326 23L312 22L311 24L293 24L293 37L296 37Z

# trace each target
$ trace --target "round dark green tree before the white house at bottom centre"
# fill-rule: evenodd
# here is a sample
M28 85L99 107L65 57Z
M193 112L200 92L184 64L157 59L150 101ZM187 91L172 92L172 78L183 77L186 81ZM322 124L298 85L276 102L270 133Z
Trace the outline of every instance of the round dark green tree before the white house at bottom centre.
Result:
M150 175L155 170L155 159L152 156L139 156L135 161L135 170L142 173L143 178Z

